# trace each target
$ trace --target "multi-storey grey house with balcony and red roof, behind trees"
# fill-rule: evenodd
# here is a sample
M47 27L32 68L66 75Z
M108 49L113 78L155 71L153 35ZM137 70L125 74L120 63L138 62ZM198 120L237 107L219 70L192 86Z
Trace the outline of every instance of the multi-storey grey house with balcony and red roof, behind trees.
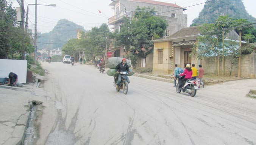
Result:
M164 38L169 37L176 31L187 27L187 15L183 14L186 9L173 3L158 2L153 0L111 0L111 9L114 10L114 16L108 19L108 25L113 25L112 29L120 31L123 25L122 18L127 17L133 19L137 6L154 8L153 15L162 17L168 22L168 27L165 30ZM112 57L125 57L126 52L123 48L114 48L115 50ZM147 51L149 57L140 58L139 62L141 67L153 68L153 49ZM140 65L138 66L140 67Z

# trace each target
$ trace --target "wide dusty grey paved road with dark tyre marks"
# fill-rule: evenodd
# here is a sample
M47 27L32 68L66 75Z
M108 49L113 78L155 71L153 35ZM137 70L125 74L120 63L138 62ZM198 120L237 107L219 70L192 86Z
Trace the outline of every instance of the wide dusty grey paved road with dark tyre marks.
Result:
M255 79L206 86L195 97L173 84L129 77L128 94L91 65L43 63L45 145L256 145ZM248 85L246 85L248 84ZM255 88L254 88L255 89Z

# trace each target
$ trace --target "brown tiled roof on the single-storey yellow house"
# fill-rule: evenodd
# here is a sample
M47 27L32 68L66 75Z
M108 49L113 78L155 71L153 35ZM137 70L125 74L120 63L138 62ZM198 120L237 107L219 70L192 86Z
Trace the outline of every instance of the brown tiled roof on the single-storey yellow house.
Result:
M193 36L193 35L198 35L200 34L199 28L200 26L192 26L192 27L187 27L187 28L182 28L179 31L173 33L167 39L170 38L176 38L176 37L185 37L185 36Z

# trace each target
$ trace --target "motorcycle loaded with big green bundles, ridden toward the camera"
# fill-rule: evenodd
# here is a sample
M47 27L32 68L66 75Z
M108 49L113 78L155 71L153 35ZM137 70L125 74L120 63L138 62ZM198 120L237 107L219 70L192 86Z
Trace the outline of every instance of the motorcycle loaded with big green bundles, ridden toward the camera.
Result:
M116 88L116 91L120 91L121 89L123 89L123 94L127 94L128 92L128 82L126 80L126 77L128 72L127 71L121 71L119 72L119 74L121 74L121 82L120 82L120 86L119 88L116 88L116 83L118 81L118 75L114 75L114 87Z

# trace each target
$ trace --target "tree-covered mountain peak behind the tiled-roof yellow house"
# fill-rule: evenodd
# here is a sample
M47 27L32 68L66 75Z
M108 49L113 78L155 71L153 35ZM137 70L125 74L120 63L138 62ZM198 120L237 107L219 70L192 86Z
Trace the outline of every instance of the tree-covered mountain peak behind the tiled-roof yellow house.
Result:
M211 2L209 2L211 1ZM193 20L192 25L203 23L214 23L219 16L228 15L234 19L247 19L255 21L256 19L248 14L242 0L207 0L204 8L199 13L198 18Z

